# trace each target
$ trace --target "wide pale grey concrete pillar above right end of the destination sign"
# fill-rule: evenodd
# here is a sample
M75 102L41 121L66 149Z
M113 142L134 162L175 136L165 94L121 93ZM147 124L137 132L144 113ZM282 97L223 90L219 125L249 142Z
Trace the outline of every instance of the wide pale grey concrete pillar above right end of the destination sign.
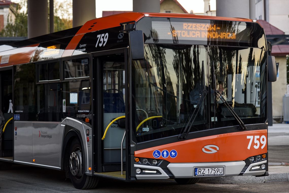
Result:
M216 16L249 18L249 0L216 0Z

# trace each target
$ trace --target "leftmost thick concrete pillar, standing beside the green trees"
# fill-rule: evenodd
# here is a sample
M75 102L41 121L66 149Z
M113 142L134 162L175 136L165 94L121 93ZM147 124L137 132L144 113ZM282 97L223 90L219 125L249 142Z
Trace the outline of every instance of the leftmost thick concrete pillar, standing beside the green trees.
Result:
M47 0L27 1L28 38L48 34Z

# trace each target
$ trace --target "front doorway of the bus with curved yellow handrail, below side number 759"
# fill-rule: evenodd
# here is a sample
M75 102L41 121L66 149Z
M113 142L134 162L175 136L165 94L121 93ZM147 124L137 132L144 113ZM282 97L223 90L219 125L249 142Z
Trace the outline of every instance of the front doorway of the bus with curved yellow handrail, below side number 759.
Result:
M125 134L125 52L94 57L98 66L98 123L102 155L99 172L121 171L121 142ZM98 139L99 140L99 139ZM123 142L123 168L125 142ZM125 177L125 175L124 175Z

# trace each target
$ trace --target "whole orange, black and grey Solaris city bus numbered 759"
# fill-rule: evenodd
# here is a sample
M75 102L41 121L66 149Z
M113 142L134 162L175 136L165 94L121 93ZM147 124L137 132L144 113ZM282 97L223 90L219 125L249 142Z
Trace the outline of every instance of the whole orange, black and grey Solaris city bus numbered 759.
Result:
M1 169L75 188L266 176L275 59L257 21L122 13L0 46Z

